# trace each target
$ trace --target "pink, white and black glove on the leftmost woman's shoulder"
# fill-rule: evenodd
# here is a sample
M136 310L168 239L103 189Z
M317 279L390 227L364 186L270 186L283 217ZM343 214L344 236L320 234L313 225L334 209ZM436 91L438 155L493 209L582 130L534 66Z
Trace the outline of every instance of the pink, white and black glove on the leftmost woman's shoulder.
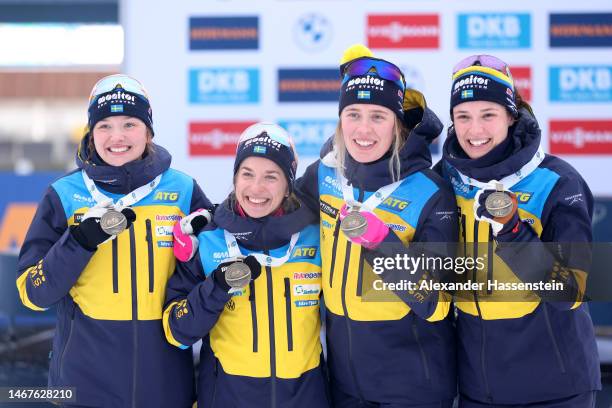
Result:
M210 211L198 209L181 218L172 227L174 256L181 262L187 262L198 250L197 235L211 220Z

